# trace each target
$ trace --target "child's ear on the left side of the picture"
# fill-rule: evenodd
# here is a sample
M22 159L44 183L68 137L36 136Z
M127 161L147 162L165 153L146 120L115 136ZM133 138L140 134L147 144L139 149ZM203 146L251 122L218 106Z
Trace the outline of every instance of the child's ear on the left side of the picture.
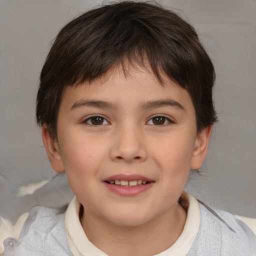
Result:
M46 149L51 167L56 172L64 171L64 165L59 152L57 139L53 139L46 124L42 126L42 141Z

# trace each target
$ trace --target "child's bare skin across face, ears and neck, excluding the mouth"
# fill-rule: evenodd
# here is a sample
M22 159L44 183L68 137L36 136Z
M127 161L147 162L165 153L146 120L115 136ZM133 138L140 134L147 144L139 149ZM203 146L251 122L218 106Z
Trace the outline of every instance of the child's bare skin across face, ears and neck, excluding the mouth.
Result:
M44 145L52 168L65 170L95 246L113 256L157 254L182 232L186 212L177 200L190 169L203 162L211 126L197 132L188 92L164 75L164 85L138 68L128 75L117 68L105 77L66 87L57 139L43 125ZM94 115L104 118L101 124L93 125ZM143 175L153 184L137 195L119 195L104 184L115 174Z

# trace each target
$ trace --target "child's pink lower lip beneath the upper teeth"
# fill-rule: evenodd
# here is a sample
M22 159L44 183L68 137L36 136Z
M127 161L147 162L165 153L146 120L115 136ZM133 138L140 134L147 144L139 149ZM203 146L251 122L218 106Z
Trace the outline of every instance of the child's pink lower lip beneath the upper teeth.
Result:
M117 193L119 195L124 195L124 196L132 196L132 195L137 195L139 193L146 191L153 185L154 182L151 181L147 184L136 185L136 186L119 186L119 185L109 184L106 182L103 182L103 183L108 189L110 189L114 193Z

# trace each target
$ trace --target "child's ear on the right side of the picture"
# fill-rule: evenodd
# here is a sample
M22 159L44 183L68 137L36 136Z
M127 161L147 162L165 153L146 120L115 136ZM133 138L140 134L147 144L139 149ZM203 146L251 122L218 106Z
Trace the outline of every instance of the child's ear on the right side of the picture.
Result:
M192 153L190 169L199 169L206 156L212 125L209 125L197 134Z

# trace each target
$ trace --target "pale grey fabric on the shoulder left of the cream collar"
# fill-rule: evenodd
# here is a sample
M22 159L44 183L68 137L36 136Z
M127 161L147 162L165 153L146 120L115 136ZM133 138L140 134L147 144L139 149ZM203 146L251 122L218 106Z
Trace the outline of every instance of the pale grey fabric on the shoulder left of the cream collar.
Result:
M66 207L57 209L34 206L21 229L19 238L4 240L3 256L68 256L72 255L65 232Z

